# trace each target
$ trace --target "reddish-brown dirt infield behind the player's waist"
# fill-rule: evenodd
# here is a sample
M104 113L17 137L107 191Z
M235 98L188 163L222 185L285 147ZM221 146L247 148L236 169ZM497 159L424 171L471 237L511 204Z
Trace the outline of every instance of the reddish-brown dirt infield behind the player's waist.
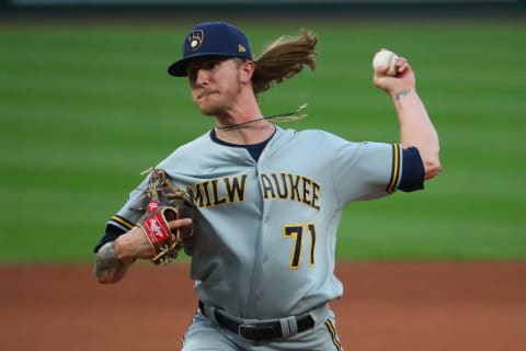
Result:
M336 274L347 351L526 348L526 262L340 262ZM1 349L180 350L196 308L187 276L141 264L107 286L90 265L0 267Z

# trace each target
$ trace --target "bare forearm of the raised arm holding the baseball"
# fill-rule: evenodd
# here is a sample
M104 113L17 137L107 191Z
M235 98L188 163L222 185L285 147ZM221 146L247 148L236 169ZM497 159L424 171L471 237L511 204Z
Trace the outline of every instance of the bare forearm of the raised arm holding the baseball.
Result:
M425 179L439 173L439 141L422 100L414 89L405 88L391 95L400 123L400 143L416 147L424 163Z

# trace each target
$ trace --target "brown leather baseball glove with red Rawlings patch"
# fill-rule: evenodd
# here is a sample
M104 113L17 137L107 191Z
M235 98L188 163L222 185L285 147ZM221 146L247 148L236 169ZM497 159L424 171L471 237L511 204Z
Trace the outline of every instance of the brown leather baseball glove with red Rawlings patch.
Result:
M162 169L153 168L142 203L146 207L134 210L144 212L137 225L142 229L153 248L150 259L155 264L169 263L179 256L184 240L192 236L192 226L170 229L168 223L180 218L193 218L195 208L191 188L173 185Z

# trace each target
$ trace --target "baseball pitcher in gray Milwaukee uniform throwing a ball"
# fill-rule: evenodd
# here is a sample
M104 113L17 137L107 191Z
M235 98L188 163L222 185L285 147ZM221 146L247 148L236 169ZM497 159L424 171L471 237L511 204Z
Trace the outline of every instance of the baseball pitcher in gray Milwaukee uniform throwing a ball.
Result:
M184 249L198 297L182 350L343 350L331 301L342 296L334 251L353 201L424 188L441 171L437 133L397 57L374 71L400 125L398 143L356 143L294 131L265 116L259 97L305 67L317 36L301 31L259 58L237 26L208 22L183 39L169 67L186 77L214 127L155 167L106 224L95 275L116 283L137 259L167 263ZM167 190L168 189L168 190ZM156 219L156 226L147 226Z

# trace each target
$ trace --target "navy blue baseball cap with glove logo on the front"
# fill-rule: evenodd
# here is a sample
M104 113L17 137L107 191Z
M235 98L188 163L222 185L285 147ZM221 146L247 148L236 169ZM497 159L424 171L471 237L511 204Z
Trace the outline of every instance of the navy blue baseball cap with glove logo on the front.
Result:
M188 32L183 43L183 58L170 65L168 72L185 77L188 61L205 56L252 59L249 41L240 29L227 22L206 22Z

